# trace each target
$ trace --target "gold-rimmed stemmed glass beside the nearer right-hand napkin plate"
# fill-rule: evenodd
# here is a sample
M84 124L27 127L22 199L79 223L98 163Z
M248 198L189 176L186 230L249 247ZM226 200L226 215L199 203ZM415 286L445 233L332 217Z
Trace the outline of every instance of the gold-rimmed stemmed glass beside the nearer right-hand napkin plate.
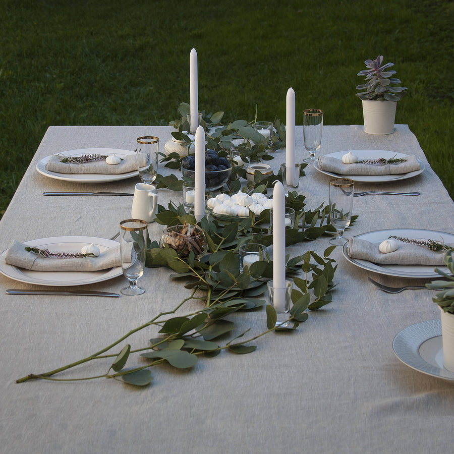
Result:
M350 225L353 208L354 183L348 178L334 178L329 181L329 216L331 224L337 230L336 238L330 244L343 246L347 241L344 230Z

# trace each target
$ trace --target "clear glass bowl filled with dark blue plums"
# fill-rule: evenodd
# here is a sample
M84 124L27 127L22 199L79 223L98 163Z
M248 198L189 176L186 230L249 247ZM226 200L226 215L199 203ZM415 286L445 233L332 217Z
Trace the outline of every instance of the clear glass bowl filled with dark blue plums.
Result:
M183 177L194 180L195 158L193 155L185 156L181 160L181 173ZM219 157L216 151L205 152L205 189L215 191L222 188L229 181L232 173L232 164L229 159Z

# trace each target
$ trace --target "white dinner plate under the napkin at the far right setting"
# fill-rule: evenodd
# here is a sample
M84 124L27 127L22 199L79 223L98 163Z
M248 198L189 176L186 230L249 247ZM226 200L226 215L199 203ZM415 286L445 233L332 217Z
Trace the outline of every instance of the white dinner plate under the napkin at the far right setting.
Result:
M408 154L397 153L395 151L388 150L347 150L347 151L336 151L335 153L325 154L328 157L334 157L339 160L342 160L342 156L348 153L349 151L352 154L356 154L358 159L378 159L384 157L386 159L396 157L405 159L408 157ZM318 161L314 162L314 167L318 172L322 174L329 175L330 177L345 177L350 178L350 180L356 181L358 183L389 183L393 181L406 180L407 178L416 177L419 174L424 172L426 168L424 162L418 159L418 162L421 164L421 168L418 171L408 172L407 174L395 174L395 175L340 175L334 174L332 172L322 171L318 166Z

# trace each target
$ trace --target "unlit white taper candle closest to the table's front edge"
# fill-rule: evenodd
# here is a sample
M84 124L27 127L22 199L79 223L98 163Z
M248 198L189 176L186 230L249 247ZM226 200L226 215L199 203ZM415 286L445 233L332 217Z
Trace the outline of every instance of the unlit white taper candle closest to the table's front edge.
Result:
M285 192L280 181L273 188L273 287L274 309L285 311L286 307L286 204Z

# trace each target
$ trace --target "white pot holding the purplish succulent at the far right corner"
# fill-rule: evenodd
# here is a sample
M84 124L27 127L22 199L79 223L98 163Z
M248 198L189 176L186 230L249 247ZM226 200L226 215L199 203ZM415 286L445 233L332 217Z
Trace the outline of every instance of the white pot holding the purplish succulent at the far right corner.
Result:
M396 105L396 101L363 100L364 132L367 134L392 134Z

